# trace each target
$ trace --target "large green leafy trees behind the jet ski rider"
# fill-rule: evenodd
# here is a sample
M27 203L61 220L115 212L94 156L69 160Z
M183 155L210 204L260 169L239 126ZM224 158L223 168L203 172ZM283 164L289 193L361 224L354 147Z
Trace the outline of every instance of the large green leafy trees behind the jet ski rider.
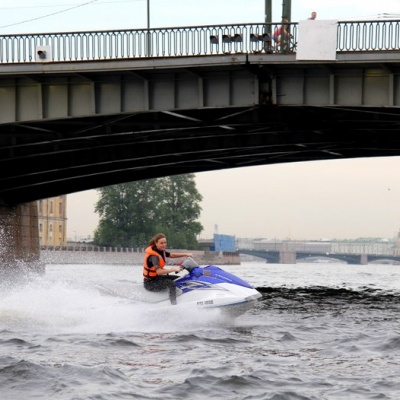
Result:
M98 189L94 233L99 246L145 247L162 232L168 247L196 249L202 196L194 174L149 179Z

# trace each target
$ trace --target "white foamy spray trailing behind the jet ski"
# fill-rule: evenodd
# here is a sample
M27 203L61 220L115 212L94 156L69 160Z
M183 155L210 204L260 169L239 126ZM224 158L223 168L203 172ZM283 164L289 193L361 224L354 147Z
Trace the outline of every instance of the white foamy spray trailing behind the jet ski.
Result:
M86 273L88 272L86 268ZM83 271L81 271L81 274ZM188 306L153 309L127 298L125 281L120 291L99 290L99 275L83 280L53 274L8 288L0 302L0 330L31 333L175 332L207 327L222 321L217 311L193 312ZM90 275L89 275L90 276Z

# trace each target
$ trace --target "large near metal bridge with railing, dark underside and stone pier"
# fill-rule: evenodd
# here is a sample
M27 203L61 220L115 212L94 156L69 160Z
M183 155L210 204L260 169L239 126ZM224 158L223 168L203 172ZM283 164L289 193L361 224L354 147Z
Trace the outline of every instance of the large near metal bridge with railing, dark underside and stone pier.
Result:
M0 36L1 259L37 257L40 198L399 155L400 21L316 22Z

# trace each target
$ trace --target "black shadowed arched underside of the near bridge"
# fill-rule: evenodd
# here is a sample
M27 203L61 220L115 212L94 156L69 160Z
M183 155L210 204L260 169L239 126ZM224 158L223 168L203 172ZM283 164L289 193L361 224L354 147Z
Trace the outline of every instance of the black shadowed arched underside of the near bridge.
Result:
M0 199L161 176L400 155L400 108L255 106L0 125Z

